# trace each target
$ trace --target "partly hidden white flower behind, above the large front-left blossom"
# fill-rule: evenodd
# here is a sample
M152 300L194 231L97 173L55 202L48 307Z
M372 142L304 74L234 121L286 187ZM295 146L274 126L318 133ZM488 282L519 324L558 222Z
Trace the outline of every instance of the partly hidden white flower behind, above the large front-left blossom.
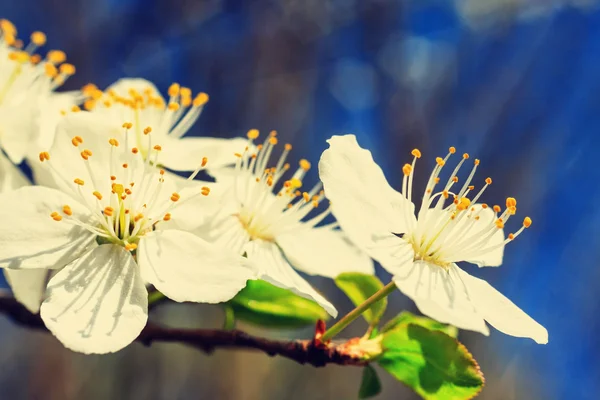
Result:
M200 116L208 95L198 93L192 97L189 88L176 83L169 87L168 100L151 82L139 78L121 79L105 92L87 85L83 92L89 96L84 108L98 118L118 127L123 121L133 123L132 140L144 156L149 149L142 131L151 126L155 139L164 146L161 163L173 170L193 171L199 156L208 157L212 168L231 164L232 154L242 152L246 146L243 138L183 138Z

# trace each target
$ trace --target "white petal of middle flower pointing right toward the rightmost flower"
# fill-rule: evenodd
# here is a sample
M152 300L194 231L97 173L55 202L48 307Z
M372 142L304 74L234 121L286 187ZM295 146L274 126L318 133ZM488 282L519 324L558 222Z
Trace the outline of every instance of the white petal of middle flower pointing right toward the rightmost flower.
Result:
M373 261L339 230L305 228L277 236L277 245L294 268L335 278L343 272L373 274Z

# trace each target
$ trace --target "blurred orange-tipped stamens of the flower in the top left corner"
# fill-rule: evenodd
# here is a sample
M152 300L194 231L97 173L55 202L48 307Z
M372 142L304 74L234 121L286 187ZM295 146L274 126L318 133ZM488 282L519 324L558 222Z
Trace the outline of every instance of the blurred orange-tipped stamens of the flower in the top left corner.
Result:
M17 39L17 29L8 20L0 20L0 52L8 57L0 60L0 69L10 71L0 76L0 105L12 100L26 101L28 94L50 94L75 73L75 67L64 63L65 53L51 50L42 59L34 52L46 43L46 35L33 32L29 44Z

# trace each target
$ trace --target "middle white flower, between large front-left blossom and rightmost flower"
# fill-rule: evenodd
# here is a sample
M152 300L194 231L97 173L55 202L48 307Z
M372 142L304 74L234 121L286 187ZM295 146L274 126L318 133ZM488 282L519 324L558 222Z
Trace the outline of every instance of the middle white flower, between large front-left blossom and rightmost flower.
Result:
M229 185L230 191L221 200L220 212L196 232L246 253L261 268L261 279L313 299L335 316L334 306L292 265L310 275L334 278L342 272L373 273L372 261L335 229L337 224L317 226L330 210L328 206L317 210L325 200L320 183L300 191L310 169L307 160L301 160L300 167L284 180L291 145L286 144L275 166L270 166L278 143L276 133L271 132L258 146L253 142L258 138L257 130L250 130L248 138L247 148L256 152L237 154L234 169L215 171L217 184Z

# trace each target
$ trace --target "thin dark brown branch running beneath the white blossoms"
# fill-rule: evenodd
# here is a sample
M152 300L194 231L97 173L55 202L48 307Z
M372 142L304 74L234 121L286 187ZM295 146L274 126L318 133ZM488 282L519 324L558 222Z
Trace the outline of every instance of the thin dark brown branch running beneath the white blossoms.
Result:
M32 314L13 298L0 297L0 314L6 315L17 324L47 332L39 314ZM148 322L136 339L146 346L153 342L183 343L207 354L216 349L249 349L282 356L300 364L322 367L327 364L365 365L356 354L348 351L346 344L324 345L318 340L271 340L249 335L240 330L177 329Z

